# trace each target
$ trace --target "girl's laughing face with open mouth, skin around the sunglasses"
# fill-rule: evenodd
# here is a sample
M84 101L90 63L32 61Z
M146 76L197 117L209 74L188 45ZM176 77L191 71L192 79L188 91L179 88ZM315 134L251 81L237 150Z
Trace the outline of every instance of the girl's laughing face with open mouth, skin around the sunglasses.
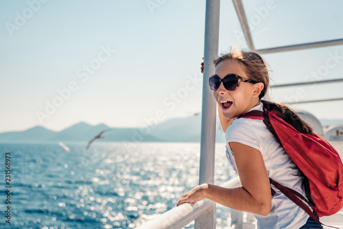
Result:
M248 79L243 64L237 60L223 60L217 65L215 74L221 79L228 74L235 74ZM261 93L262 88L262 83L251 84L241 82L235 91L228 91L221 83L217 91L213 91L213 95L222 109L224 117L226 119L234 119L244 115L252 107L259 104L259 93Z

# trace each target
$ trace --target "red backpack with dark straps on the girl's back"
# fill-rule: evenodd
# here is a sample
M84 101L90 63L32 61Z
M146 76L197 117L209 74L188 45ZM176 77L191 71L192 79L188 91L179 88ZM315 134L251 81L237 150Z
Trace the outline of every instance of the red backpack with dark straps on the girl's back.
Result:
M272 179L271 184L316 221L318 219L312 210L318 217L337 213L343 207L343 164L338 152L317 134L298 132L281 119L279 112L270 110L268 104L264 103L263 109L264 112L252 110L241 118L263 120L303 174L309 202L300 193ZM307 202L312 210L303 201Z

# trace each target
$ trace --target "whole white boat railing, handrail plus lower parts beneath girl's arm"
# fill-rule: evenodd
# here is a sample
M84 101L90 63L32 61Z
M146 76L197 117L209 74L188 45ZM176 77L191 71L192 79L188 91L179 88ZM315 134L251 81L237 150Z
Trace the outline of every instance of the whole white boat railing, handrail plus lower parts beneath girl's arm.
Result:
M241 186L241 182L237 177L225 182L221 186L235 188ZM196 204L181 204L180 206L159 215L155 219L145 222L145 224L139 226L137 229L184 228L195 219L197 219L197 227L207 229L207 222L202 221L202 219L206 219L206 217L203 216L207 215L214 206L215 202L207 199L196 202ZM255 228L255 217L231 209L231 225L233 226L231 228L235 229Z

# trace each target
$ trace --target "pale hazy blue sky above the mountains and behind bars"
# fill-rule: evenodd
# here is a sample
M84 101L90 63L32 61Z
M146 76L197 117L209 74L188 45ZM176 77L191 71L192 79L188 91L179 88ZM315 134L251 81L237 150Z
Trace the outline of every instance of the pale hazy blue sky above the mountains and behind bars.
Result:
M243 1L257 49L343 38L343 1ZM0 1L0 132L84 121L143 127L201 111L204 0ZM246 49L232 1L219 53ZM342 78L343 47L263 55L271 84ZM343 97L342 83L270 90L272 101ZM343 101L293 105L343 119Z

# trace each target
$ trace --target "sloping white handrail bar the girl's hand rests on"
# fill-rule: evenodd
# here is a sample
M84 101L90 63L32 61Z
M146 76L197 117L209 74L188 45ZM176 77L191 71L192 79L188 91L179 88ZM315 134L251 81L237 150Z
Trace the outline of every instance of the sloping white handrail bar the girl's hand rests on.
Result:
M241 182L237 177L228 180L228 182L225 182L221 186L226 188L235 188L240 185ZM206 213L207 210L211 210L213 204L215 204L215 202L207 199L196 202L196 204L181 204L180 206L172 208L162 215L158 215L158 217L145 222L141 226L137 227L137 229L184 228L191 221Z

